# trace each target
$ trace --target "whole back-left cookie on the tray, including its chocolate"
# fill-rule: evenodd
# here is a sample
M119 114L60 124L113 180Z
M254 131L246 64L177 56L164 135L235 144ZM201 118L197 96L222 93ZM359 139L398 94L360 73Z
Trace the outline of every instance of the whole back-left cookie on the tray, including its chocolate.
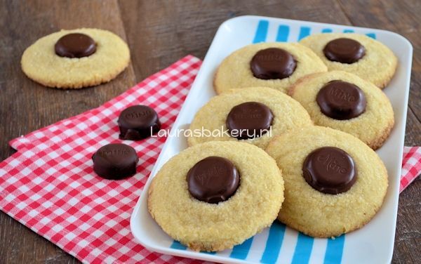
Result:
M286 92L291 84L326 65L298 43L261 43L240 48L222 61L213 85L217 93L232 88L270 87Z

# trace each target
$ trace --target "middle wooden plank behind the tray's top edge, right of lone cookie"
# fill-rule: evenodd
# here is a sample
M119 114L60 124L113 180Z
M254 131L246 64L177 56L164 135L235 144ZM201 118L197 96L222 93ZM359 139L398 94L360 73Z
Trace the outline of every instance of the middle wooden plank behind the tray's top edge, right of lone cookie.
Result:
M187 54L202 58L219 25L238 15L348 24L335 1L119 1L136 77ZM138 81L140 81L138 79Z

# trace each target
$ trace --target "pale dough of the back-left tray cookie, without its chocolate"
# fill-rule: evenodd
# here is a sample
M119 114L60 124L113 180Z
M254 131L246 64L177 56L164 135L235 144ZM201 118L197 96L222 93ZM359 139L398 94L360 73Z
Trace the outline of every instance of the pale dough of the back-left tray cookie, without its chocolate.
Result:
M293 55L297 67L290 77L284 79L264 80L253 76L250 70L250 60L255 53L266 48L282 48ZM225 60L215 74L213 85L217 93L228 91L232 88L270 87L286 92L286 89L301 77L314 72L326 72L327 67L320 58L309 48L298 43L262 43L252 44L234 51Z

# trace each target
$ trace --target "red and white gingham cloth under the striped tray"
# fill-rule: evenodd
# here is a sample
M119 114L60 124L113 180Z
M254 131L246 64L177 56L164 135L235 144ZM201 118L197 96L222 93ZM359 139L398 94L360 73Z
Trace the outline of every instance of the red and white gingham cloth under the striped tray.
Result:
M83 263L194 263L135 242L133 208L165 138L124 141L139 154L138 173L105 180L92 154L121 142L116 119L129 105L149 105L171 128L201 61L188 55L104 105L11 140L18 150L0 164L0 209ZM401 190L421 171L420 147L405 147Z

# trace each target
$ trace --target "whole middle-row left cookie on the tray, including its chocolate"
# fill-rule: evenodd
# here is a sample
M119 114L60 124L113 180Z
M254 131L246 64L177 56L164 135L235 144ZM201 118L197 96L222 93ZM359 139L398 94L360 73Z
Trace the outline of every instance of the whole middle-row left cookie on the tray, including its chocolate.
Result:
M265 148L273 136L310 125L306 110L285 93L267 87L233 89L201 107L190 125L187 142L243 141Z

